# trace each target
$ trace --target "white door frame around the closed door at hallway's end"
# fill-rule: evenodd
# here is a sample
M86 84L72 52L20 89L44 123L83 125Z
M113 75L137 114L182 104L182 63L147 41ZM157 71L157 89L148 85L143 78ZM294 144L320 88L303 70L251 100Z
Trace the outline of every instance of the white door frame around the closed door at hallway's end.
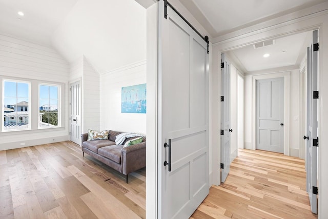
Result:
M252 150L256 149L256 81L269 78L284 78L284 100L283 100L283 154L290 155L290 72L278 72L252 76Z

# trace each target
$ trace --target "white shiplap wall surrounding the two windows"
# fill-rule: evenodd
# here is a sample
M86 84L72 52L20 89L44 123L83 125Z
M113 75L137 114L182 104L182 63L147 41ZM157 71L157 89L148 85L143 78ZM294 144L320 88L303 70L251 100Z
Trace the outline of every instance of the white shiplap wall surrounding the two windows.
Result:
M69 66L54 49L29 43L24 39L0 35L0 75L3 78L16 77L63 83L64 98L61 108L63 128L38 130L36 125L32 125L32 128L35 127L34 130L0 133L0 150L20 148L22 147L20 143L23 142L25 146L32 146L69 139L67 84ZM34 88L32 92L37 95L38 88L37 86ZM1 109L2 106L1 104ZM32 112L31 120L38 121L35 116L38 116L37 113ZM16 137L17 135L19 138Z

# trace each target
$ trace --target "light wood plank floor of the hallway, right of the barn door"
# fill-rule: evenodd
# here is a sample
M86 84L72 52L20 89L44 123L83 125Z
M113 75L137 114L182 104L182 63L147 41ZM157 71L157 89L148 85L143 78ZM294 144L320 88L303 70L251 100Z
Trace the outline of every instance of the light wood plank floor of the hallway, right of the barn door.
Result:
M310 210L305 174L299 158L239 150L226 182L210 188L191 218L317 218Z

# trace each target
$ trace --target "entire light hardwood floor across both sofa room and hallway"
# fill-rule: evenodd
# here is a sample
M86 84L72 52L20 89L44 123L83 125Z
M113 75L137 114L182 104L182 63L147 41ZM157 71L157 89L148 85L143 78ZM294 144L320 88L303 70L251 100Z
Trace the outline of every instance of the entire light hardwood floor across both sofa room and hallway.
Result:
M239 150L191 218L317 218L304 161ZM61 142L0 151L0 218L145 218L146 169L125 176Z

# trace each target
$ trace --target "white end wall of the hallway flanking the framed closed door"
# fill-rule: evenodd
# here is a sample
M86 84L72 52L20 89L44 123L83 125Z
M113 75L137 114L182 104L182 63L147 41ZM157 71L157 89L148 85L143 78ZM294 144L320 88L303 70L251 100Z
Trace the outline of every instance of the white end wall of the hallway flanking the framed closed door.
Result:
M268 73L265 70L263 73ZM299 69L290 71L290 155L299 156ZM273 73L273 72L272 72ZM260 74L257 74L260 75ZM270 74L268 74L270 75ZM245 76L245 148L252 149L252 77ZM295 120L295 118L297 118Z

